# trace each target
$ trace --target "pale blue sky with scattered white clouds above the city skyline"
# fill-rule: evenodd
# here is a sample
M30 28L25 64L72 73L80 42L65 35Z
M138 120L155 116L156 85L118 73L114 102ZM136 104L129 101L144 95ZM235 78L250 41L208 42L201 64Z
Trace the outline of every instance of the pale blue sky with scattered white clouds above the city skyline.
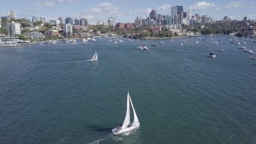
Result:
M108 17L114 17L115 22L134 22L136 16L142 19L148 17L152 9L157 14L167 15L171 14L171 7L176 5L183 5L184 11L191 10L193 15L208 15L216 20L222 20L224 16L237 20L247 16L248 19L256 20L256 0L13 0L1 2L0 15L6 16L13 9L16 18L31 20L33 15L45 16L47 21L59 16L64 19L85 18L94 25L97 20L107 21Z

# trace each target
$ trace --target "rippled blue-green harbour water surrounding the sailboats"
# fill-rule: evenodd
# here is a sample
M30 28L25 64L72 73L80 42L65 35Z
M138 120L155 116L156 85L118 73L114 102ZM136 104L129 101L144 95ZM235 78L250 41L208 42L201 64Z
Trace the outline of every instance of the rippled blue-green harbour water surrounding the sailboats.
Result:
M0 143L256 143L256 61L217 39L1 47ZM141 125L115 136L128 88Z

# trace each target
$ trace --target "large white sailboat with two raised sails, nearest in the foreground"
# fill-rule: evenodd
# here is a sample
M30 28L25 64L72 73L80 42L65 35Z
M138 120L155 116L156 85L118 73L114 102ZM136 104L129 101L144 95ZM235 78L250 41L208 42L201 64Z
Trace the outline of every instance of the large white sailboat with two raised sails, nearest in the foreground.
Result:
M131 123L131 118L130 118L130 102L131 102L131 106L132 106L132 110L133 110L133 123ZM126 133L128 131L131 131L137 127L139 127L139 121L138 121L138 117L136 115L136 112L135 112L135 109L132 105L132 101L131 101L131 96L128 92L127 94L127 109L126 109L126 116L125 116L125 120L124 120L124 123L123 125L117 125L117 127L115 127L114 129L112 129L112 132L115 134L115 135L118 135L118 134L123 134L123 133Z

